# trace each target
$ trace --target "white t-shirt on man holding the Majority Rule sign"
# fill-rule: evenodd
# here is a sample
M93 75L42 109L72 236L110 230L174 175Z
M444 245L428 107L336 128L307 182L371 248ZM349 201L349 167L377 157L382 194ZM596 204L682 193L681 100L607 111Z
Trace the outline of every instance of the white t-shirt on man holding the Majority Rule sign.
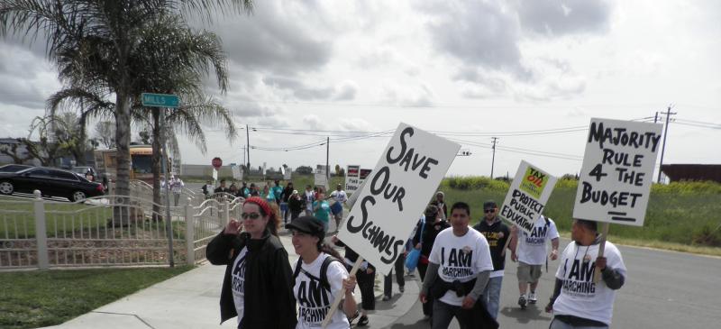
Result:
M606 242L607 267L625 277L625 264L616 245ZM574 315L611 325L616 290L608 288L603 279L593 283L598 244L588 247L570 242L561 256L556 278L563 281L561 295L553 304L555 315ZM584 262L584 260L587 260Z

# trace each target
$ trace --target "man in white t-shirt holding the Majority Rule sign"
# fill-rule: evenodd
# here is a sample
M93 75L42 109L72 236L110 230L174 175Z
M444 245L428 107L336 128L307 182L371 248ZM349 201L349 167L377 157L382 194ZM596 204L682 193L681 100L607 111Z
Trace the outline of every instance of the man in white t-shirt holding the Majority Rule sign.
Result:
M553 312L550 329L608 328L616 290L624 285L626 277L621 252L606 242L603 257L598 257L596 222L576 219L570 230L573 242L561 255L556 287L546 306L546 312ZM593 282L596 270L601 271L601 279Z

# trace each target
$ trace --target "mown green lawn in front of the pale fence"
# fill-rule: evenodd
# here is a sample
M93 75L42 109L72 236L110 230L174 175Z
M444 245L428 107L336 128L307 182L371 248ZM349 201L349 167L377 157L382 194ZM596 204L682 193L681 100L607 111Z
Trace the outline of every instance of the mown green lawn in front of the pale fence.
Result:
M0 328L61 324L191 267L0 273Z

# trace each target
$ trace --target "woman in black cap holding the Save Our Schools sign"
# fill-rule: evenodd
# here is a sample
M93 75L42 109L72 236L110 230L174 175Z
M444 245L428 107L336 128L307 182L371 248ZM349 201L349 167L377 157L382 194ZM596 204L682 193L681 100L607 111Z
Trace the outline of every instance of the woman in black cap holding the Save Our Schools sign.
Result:
M355 277L348 274L340 255L324 244L324 224L315 217L303 216L287 224L293 234L293 247L300 256L294 270L293 294L298 302L297 329L319 327L330 310L335 296L344 290L342 306L326 328L346 329L351 324L346 315L357 313L353 289Z

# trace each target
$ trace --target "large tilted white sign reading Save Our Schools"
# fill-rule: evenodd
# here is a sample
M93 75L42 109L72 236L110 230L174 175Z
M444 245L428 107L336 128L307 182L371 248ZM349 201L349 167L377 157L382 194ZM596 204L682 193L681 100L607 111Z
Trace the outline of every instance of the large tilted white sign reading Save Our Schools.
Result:
M387 274L461 145L406 123L360 189L338 238Z

